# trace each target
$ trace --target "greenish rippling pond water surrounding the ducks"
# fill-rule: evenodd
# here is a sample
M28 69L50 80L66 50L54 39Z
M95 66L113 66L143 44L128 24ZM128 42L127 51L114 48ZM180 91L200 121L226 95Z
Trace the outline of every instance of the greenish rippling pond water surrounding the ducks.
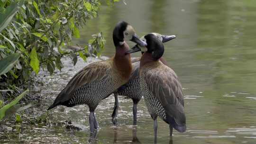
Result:
M187 131L170 140L167 124L158 118L158 144L256 144L256 1L255 0L126 0L102 4L99 18L88 21L74 44L86 45L92 34L103 32L107 45L102 55L113 56L112 30L125 20L138 36L150 32L177 35L165 43L164 57L182 82ZM128 42L130 47L134 44ZM133 54L134 57L140 54ZM66 62L62 76L46 76L49 97L42 113L71 77L85 65ZM75 71L74 71L75 70ZM153 120L144 100L138 104L137 135L132 126L132 100L119 96L118 126L111 122L114 99L104 99L96 109L100 130L96 144L151 144ZM62 125L30 126L1 136L3 143L89 143L85 106L58 107L49 112L54 123L70 119L84 127L67 130ZM17 125L11 125L12 130Z

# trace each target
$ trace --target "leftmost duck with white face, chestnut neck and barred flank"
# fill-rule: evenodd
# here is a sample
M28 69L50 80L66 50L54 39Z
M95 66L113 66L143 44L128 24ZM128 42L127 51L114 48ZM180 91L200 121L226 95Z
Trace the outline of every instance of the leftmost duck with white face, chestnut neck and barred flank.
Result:
M125 54L129 49L125 40L146 46L146 43L137 37L131 25L124 21L119 22L113 31L116 54L106 61L91 63L77 72L48 110L58 105L73 107L86 104L90 109L91 133L94 129L97 129L98 122L94 114L95 108L102 99L107 98L121 85L125 84L129 80L132 71L130 54Z

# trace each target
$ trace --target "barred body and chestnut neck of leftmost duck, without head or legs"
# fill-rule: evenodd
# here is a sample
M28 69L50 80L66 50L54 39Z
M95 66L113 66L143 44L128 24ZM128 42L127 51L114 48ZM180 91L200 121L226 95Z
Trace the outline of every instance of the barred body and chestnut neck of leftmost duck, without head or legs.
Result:
M119 48L119 51L128 50L127 44L122 47L122 49ZM94 62L85 66L73 76L59 93L54 104L48 109L57 105L72 107L78 104L87 104L95 108L101 99L108 97L120 85L128 81L132 70L129 59L130 55L119 52L106 61ZM124 67L120 68L120 63Z

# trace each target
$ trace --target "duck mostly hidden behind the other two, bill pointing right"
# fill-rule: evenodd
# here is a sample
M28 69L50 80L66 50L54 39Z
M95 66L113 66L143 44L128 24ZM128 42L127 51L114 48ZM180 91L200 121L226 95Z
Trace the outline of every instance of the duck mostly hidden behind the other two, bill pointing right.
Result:
M165 43L172 39L174 39L176 36L165 36L158 33L150 33L155 35L161 42ZM146 41L145 37L142 36L140 38L142 41ZM143 51L141 52L144 53ZM129 99L132 99L133 101L133 125L137 125L137 103L140 101L142 95L140 90L140 84L139 84L139 64L140 64L140 58L133 58L134 62L132 62L132 73L130 75L129 81L122 85L115 93L115 106L112 114L112 121L114 124L116 124L116 117L118 113L119 108L119 102L118 102L118 95L127 96ZM162 63L167 65L166 61L163 57L159 59Z

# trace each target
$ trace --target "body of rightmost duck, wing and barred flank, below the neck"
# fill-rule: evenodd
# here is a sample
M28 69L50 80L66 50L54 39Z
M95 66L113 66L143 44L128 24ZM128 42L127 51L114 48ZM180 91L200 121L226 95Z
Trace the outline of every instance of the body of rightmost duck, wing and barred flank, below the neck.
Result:
M180 132L186 129L184 99L176 73L160 61L141 67L140 85L150 114L157 114Z

